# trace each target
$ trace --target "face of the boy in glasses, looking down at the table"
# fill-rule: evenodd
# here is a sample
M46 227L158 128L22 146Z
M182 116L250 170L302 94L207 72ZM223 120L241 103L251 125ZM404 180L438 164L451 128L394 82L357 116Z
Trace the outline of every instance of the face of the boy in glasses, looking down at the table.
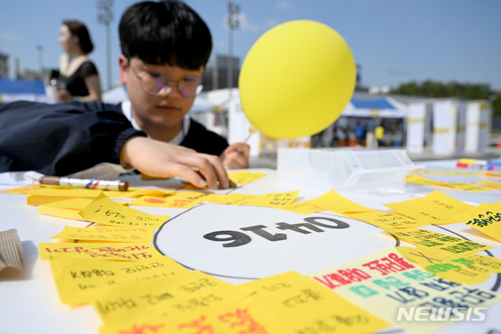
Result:
M202 78L203 67L199 70L184 70L170 65L152 65L143 63L139 58L127 58L121 55L120 81L127 86L127 93L132 104L134 118L143 129L148 127L175 129L181 126L184 115L193 105L195 97L184 97L177 89L177 82L183 78ZM127 66L128 65L128 66ZM147 72L148 74L145 74ZM175 81L172 89L161 90L154 96L145 91L141 80L146 75L163 75L166 79ZM143 79L141 79L143 78Z

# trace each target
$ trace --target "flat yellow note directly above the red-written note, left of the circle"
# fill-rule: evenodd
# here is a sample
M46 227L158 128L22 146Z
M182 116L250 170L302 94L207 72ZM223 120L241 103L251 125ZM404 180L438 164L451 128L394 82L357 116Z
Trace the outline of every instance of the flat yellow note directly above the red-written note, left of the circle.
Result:
M153 228L70 228L51 237L51 239L100 240L121 242L150 242L153 239Z

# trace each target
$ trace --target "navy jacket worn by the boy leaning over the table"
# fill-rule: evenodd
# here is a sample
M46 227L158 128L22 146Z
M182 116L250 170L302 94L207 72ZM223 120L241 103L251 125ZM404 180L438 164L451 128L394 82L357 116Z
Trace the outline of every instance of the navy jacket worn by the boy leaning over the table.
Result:
M67 175L102 162L120 164L120 150L134 129L120 104L102 102L0 106L0 172L35 170ZM219 155L228 142L191 120L181 145Z

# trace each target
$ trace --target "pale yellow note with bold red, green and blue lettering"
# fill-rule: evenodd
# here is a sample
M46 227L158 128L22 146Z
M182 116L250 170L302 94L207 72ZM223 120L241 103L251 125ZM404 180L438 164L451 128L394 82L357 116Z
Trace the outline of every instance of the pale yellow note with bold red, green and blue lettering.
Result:
M313 271L308 276L408 333L433 333L454 321L447 321L447 317L444 321L415 321L413 316L398 315L402 309L408 312L409 308L423 305L443 308L458 304L466 308L487 307L501 300L499 294L488 289L441 280L406 260L392 246ZM482 299L465 298L473 295L482 296ZM450 316L454 317L453 314ZM429 317L429 314L422 314L420 319Z

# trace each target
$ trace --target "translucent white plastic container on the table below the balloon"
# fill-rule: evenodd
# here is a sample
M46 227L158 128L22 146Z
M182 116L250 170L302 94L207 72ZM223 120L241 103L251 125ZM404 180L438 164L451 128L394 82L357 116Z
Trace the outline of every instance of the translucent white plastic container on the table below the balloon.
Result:
M278 180L302 188L402 188L414 164L405 150L279 148Z

